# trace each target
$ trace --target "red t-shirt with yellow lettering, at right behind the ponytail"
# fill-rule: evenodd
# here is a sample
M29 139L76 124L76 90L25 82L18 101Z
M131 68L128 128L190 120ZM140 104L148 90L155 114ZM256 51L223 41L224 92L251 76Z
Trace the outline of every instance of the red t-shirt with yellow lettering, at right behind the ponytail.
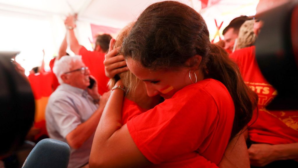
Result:
M298 142L298 111L269 111L265 107L277 91L263 77L255 59L255 46L235 51L231 56L240 68L243 80L259 96L258 117L249 129L249 138L257 143ZM255 119L256 110L253 120Z

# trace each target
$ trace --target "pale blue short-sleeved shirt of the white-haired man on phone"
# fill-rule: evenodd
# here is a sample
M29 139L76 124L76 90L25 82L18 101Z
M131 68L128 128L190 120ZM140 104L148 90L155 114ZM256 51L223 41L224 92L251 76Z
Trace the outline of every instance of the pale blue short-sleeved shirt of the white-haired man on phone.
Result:
M97 108L98 105L93 103L86 90L68 84L59 85L49 97L46 106L46 128L49 137L67 143L66 135L88 120ZM79 149L71 148L69 168L88 163L94 133Z

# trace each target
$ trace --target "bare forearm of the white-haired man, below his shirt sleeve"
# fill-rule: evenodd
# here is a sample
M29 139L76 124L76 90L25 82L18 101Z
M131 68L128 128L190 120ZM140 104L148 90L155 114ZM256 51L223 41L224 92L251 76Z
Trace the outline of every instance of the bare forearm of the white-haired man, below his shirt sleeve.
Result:
M66 136L66 140L72 148L79 148L95 132L104 107L99 107L97 111L84 123L77 126Z

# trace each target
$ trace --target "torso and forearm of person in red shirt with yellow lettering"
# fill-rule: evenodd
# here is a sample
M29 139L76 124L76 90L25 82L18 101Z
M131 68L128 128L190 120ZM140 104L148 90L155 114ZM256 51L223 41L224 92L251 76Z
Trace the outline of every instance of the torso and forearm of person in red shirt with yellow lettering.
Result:
M251 165L274 167L286 163L281 160L297 165L298 111L266 109L278 93L258 67L255 46L237 50L230 57L238 63L243 80L259 96L258 113L255 111L258 116L254 114L248 128L252 143L248 149Z

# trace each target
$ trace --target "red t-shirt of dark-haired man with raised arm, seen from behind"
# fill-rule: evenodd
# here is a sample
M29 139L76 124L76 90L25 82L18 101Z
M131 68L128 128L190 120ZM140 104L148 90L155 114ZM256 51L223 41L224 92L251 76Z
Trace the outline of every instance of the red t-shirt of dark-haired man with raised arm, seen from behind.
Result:
M103 65L105 54L98 51L88 51L82 46L79 55L82 56L84 64L89 68L90 74L97 80L98 93L102 95L107 92L110 79L105 76L105 66Z

